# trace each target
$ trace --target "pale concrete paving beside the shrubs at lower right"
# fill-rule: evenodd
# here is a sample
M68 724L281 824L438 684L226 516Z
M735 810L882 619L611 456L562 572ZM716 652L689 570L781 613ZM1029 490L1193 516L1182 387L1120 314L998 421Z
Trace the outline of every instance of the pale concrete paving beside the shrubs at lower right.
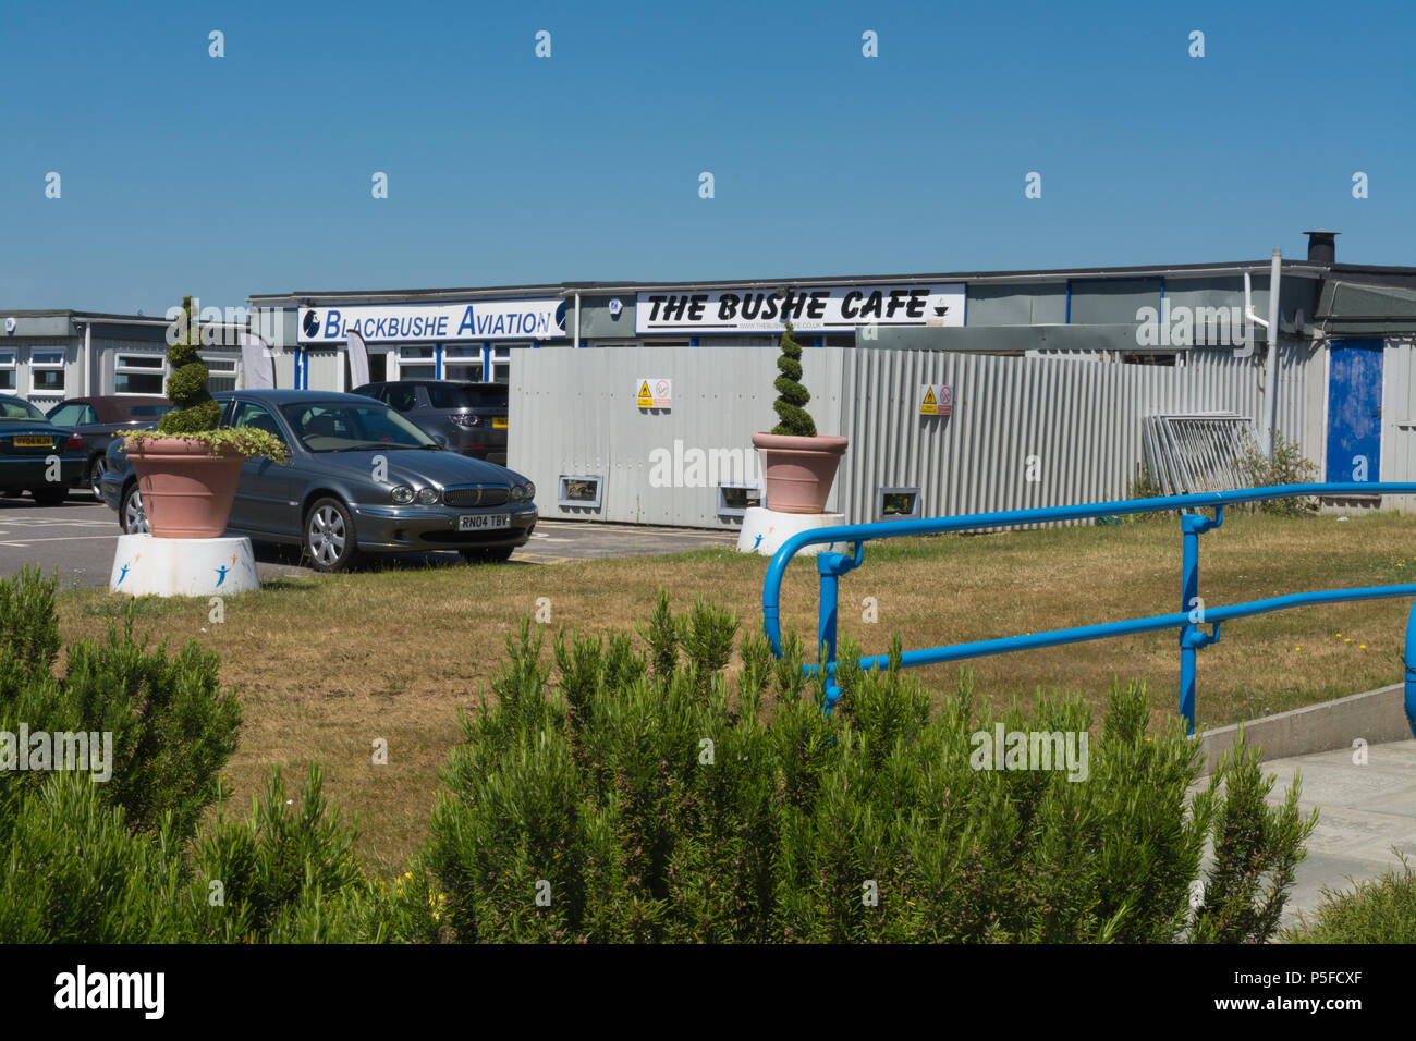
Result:
M1270 759L1264 773L1276 780L1270 802L1283 802L1294 776L1301 778L1304 814L1318 810L1308 837L1308 857L1294 877L1284 923L1298 911L1314 911L1323 887L1351 889L1355 881L1400 870L1400 851L1416 864L1416 741L1366 748L1366 763L1354 762L1357 749L1314 752Z

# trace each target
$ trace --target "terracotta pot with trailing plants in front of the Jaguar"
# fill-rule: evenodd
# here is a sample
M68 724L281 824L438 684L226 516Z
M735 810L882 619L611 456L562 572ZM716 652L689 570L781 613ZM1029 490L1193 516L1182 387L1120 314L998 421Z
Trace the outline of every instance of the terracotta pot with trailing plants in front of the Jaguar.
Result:
M245 455L222 448L214 456L201 440L157 438L130 443L127 457L156 538L221 538Z

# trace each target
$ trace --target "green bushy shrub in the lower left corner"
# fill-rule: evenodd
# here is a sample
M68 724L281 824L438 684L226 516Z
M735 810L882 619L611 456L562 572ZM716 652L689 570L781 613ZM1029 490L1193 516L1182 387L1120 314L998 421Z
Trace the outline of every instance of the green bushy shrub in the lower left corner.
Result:
M0 731L108 731L112 773L0 770L0 942L440 935L440 894L415 895L411 872L384 891L364 877L355 831L329 812L317 769L297 810L275 773L249 821L218 819L198 838L241 722L217 656L194 642L171 657L166 644L149 650L129 612L106 642L71 644L55 676L57 586L28 568L0 579Z

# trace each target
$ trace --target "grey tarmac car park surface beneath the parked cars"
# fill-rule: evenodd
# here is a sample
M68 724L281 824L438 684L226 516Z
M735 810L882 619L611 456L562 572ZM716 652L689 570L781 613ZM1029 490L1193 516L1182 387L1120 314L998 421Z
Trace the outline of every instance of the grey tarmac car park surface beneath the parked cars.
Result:
M0 499L0 575L18 574L37 564L50 574L58 569L62 586L108 585L113 548L119 534L118 514L85 491L74 493L62 506L41 507L34 500ZM531 541L517 550L513 562L565 564L569 561L649 557L684 552L711 545L732 545L731 531L685 531L683 528L639 528L619 524L539 521ZM300 565L295 547L255 542L256 569L262 579L314 575ZM391 567L457 567L455 552L409 554ZM364 562L360 567L371 567Z

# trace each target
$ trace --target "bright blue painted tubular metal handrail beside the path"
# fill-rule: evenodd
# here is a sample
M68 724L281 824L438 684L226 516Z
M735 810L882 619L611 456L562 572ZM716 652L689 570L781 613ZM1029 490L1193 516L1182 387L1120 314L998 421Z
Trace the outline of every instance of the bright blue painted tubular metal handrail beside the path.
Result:
M762 627L766 632L772 653L782 657L782 576L787 564L799 550L807 545L830 545L833 542L854 542L855 551L847 557L838 552L823 551L817 554L816 568L821 579L821 602L817 627L817 644L821 649L821 661L816 666L803 666L809 676L818 671L826 673L826 705L830 712L841 695L841 688L835 683L835 622L837 622L837 588L841 575L861 567L865 555L865 542L881 538L901 538L905 535L929 535L944 531L978 531L983 528L1001 528L1018 524L1039 524L1046 521L1090 520L1096 517L1114 517L1130 513L1163 513L1180 511L1180 530L1182 540L1180 605L1181 609L1172 615L1154 615L1151 618L1136 618L1124 622L1104 622L1102 625L1078 626L1075 629L1054 629L1045 633L1031 633L1028 636L1008 636L995 640L976 640L973 643L954 643L943 647L927 647L923 650L906 650L901 654L901 666L927 666L940 661L961 661L964 659L986 657L988 654L1007 654L1015 650L1035 650L1038 647L1056 647L1065 643L1083 643L1086 640L1107 640L1114 636L1133 636L1136 633L1151 633L1161 629L1180 630L1180 714L1185 719L1185 727L1191 735L1195 732L1195 652L1219 639L1219 626L1233 618L1249 618L1264 615L1272 610L1286 608L1303 608L1314 603L1344 603L1348 601L1375 601L1395 596L1413 598L1412 612L1406 623L1406 722L1412 735L1416 736L1416 584L1413 585L1379 585L1359 589L1318 589L1304 593L1289 593L1273 596L1264 601L1250 601L1247 603L1232 603L1223 608L1211 608L1199 599L1199 535L1219 527L1223 523L1226 506L1238 503L1260 503L1270 499L1310 499L1317 496L1410 496L1416 494L1416 483L1337 483L1337 484L1274 484L1263 489L1239 489L1235 491L1205 491L1194 496L1163 496L1158 499L1124 499L1116 503L1082 503L1078 506L1051 506L1034 510L1003 510L998 513L974 513L961 517L919 517L915 520L878 521L875 524L840 524L828 528L811 528L800 531L787 538L782 548L772 557L767 565L767 575L762 582ZM1214 517L1206 517L1192 510L1214 510ZM1205 632L1202 626L1212 625L1212 632ZM877 654L862 657L861 669L885 669L889 657Z

